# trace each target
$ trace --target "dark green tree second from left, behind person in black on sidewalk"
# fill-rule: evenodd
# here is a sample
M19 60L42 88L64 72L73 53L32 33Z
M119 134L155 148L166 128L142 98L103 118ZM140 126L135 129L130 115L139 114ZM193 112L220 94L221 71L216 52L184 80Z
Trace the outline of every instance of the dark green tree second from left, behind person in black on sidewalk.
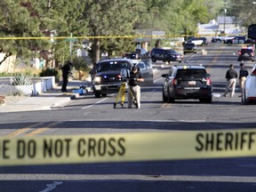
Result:
M35 5L41 13L41 28L46 36L84 36L86 33L86 20L83 19L85 8L84 0L40 0ZM80 44L77 40L74 44ZM70 42L67 39L56 39L52 42L51 49L44 49L41 55L46 60L56 60L64 63L65 60L73 60L69 50ZM73 43L72 43L73 44Z

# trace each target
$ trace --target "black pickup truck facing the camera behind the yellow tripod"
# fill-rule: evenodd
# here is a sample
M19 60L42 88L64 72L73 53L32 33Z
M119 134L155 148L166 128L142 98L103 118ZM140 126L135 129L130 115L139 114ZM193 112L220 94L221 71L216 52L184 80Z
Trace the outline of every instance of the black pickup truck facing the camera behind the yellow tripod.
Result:
M122 68L131 69L132 60L114 59L101 60L93 72L92 87L96 98L117 92L122 84L120 75Z

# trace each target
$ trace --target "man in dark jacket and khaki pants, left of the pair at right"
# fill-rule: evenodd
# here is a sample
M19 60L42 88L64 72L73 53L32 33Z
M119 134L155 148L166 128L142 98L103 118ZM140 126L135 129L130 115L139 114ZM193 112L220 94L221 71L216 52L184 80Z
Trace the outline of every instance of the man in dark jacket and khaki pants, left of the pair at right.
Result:
M236 89L236 78L237 78L237 73L236 73L236 70L234 69L234 65L230 64L229 69L226 72L227 85L226 85L226 91L223 94L224 97L227 96L229 92L229 88L231 88L230 97L231 98L234 97L235 89Z

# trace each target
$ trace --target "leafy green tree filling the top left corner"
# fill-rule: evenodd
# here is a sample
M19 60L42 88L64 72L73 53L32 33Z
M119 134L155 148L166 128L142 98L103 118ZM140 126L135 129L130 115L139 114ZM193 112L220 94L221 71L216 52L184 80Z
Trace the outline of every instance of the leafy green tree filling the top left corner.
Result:
M38 51L45 43L41 40L17 40L15 37L41 36L40 22L31 4L22 0L3 0L0 2L0 36L9 37L2 40L0 51L5 53L4 60L13 55L27 56ZM46 45L46 44L44 44ZM0 61L0 64L4 62Z

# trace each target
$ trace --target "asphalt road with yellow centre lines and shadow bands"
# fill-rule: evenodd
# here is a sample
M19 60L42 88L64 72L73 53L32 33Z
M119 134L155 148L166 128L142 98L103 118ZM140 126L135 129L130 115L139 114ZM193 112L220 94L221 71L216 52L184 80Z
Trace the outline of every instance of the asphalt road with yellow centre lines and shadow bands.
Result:
M202 48L200 48L202 49ZM238 46L203 47L207 55L186 54L189 65L203 64L211 74L212 104L198 100L162 101L162 74L171 64L157 62L155 84L141 88L141 108L113 104L116 94L86 95L51 111L0 116L1 136L73 135L111 132L189 132L255 127L255 106L242 106L238 84L234 98L224 98L230 63L239 70ZM234 54L235 53L235 54ZM253 63L245 61L250 70ZM175 63L176 64L176 63ZM3 148L3 147L2 147ZM55 164L1 167L0 191L256 191L254 157Z

